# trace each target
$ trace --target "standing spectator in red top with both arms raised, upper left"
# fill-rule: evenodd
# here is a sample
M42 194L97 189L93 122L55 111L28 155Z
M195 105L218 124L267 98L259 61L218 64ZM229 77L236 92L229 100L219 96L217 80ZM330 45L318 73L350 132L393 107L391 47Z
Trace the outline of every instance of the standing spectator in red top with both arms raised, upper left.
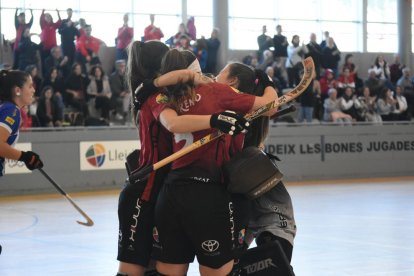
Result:
M56 9L58 15L58 21L53 22L53 18L50 13L45 13L45 10L42 10L40 15L40 28L42 32L40 33L40 41L42 42L42 49L40 52L40 57L42 60L42 68L44 68L44 62L46 58L50 56L50 50L57 46L56 43L56 30L59 29L61 24L59 10ZM46 73L43 71L43 73Z

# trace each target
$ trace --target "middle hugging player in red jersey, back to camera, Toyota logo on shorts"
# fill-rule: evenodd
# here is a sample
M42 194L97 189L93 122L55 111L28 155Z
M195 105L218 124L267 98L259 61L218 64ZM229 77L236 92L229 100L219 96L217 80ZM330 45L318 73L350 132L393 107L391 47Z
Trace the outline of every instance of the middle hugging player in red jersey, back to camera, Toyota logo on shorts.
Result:
M172 49L163 59L161 73L194 68L194 62L198 61L192 52ZM266 86L262 97L255 97L220 83L195 87L180 83L169 86L158 101L167 102L176 114L184 116L226 110L247 113L276 98L271 85ZM174 133L173 152L215 132L210 128L179 133L167 122L170 116L177 115L162 112L159 118ZM231 136L224 135L173 161L155 206L153 255L161 274L185 275L195 256L201 275L228 275L231 271L234 208L221 175L223 162L230 159L231 141Z

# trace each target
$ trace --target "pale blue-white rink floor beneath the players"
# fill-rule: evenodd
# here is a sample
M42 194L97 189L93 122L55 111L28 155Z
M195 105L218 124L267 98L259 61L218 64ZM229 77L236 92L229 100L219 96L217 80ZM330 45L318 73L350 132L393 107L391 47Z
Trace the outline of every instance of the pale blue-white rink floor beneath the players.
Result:
M296 275L414 275L414 178L286 184ZM1 276L116 274L118 191L71 197L93 227L59 194L0 197Z

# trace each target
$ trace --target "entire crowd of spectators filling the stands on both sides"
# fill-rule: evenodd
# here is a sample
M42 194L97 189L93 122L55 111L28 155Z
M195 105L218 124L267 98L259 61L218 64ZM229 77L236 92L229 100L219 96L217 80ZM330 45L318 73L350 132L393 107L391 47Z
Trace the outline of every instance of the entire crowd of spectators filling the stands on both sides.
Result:
M13 44L13 68L30 72L36 89L35 100L28 108L27 126L108 125L128 121L130 93L124 82L127 47L134 39L134 29L123 24L115 35L115 64L105 73L99 50L105 45L92 35L92 26L85 19L72 19L72 9L57 20L45 10L39 18L40 43L31 40L33 13L26 22L24 12L15 13L16 38ZM197 36L195 18L179 24L177 33L166 36L155 24L151 14L149 25L143 28L142 41L163 40L171 48L192 50L203 73L217 73L217 53L220 47L218 29L210 38ZM56 36L60 35L60 45ZM298 35L288 39L282 26L273 37L267 26L257 37L258 51L243 58L243 62L264 70L272 78L279 95L298 85L303 74L302 61L312 57L316 74L308 91L297 99L298 122L343 122L411 120L414 112L414 82L410 68L398 55L389 64L378 55L363 80L353 55L341 52L329 32L318 43L310 34L309 42ZM24 113L25 111L23 111Z

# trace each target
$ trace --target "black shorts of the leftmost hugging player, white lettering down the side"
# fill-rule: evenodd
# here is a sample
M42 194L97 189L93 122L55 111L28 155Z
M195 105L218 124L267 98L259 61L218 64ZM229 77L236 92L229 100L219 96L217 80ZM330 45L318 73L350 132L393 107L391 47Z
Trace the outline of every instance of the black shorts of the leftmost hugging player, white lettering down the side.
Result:
M155 202L140 199L143 187L126 183L118 201L118 257L146 267L151 258Z

